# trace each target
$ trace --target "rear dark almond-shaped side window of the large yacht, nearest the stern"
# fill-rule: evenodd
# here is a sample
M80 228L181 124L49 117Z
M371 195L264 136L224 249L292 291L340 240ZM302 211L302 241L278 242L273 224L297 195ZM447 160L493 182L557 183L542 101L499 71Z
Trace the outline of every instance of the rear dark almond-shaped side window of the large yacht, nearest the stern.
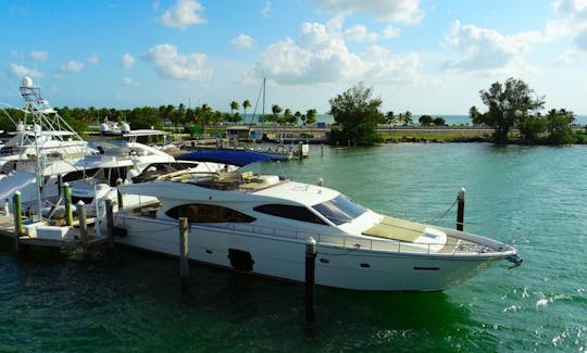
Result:
M183 204L170 209L167 216L178 219L187 217L189 223L251 223L255 218L238 211L204 203Z

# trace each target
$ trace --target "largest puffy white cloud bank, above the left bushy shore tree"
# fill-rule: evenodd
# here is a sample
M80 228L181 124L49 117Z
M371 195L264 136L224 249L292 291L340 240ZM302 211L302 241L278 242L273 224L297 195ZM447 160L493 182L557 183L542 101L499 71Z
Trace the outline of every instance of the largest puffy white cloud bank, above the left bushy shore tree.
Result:
M326 24L304 23L298 40L286 38L267 47L257 63L257 74L278 84L316 84L349 80L414 83L420 63L416 54L392 55L383 47L350 52L342 20ZM398 80L399 73L404 72ZM412 76L410 78L410 76Z

